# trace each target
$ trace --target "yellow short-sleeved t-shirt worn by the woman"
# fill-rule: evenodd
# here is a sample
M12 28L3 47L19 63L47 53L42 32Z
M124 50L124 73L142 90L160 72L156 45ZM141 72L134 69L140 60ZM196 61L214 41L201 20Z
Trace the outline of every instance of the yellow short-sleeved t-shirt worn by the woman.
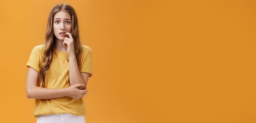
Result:
M27 67L30 66L37 72L40 71L39 60L43 56L43 46L44 45L37 45L33 48L27 63ZM80 69L80 72L87 72L89 73L89 77L91 77L92 50L90 47L85 45L82 45L82 47L82 57L80 60L82 67ZM57 57L55 53L53 53L52 63L50 64L49 70L46 72L45 88L68 88L70 86L68 76L66 75L69 70L69 63L67 61L68 52L61 52L56 50L56 48L54 48L54 52L57 53ZM40 85L40 87L42 87L40 79L38 84ZM86 115L83 98L74 99L68 96L63 96L53 99L35 99L34 117L37 117L37 115L48 115L57 113L70 113L79 116Z

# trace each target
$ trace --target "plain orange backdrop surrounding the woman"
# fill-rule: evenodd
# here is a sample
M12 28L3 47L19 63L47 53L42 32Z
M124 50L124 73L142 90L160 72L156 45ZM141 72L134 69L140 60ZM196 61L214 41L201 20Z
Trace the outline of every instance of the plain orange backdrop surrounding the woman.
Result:
M255 123L254 0L0 1L0 121L35 123L26 64L52 7L93 50L86 123Z

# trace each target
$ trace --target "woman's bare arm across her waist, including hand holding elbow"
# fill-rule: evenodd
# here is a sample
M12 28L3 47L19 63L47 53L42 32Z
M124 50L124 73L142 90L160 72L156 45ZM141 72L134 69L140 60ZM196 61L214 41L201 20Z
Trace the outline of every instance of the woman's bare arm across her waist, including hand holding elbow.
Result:
M48 89L39 87L37 85L38 80L39 73L32 67L29 67L26 80L26 93L28 98L52 99L63 96L69 96L71 98L79 99L87 93L87 89L77 89L80 86L84 86L83 84L75 84L65 89Z

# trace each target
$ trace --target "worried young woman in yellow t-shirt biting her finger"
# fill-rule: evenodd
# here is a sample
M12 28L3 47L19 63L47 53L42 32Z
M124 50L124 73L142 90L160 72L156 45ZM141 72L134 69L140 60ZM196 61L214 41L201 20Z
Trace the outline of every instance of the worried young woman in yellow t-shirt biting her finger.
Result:
M52 8L45 43L33 48L27 67L26 92L35 98L37 123L85 123L83 96L92 76L92 50L80 43L70 5Z

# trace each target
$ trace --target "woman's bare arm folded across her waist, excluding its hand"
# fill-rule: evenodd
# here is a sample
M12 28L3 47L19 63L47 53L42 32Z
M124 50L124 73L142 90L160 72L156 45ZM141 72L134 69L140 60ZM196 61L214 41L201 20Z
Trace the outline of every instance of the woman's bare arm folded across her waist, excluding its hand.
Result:
M39 73L32 67L28 69L26 92L28 98L35 99L51 99L63 96L68 96L68 90L66 89L48 89L42 88L37 85L39 80Z

